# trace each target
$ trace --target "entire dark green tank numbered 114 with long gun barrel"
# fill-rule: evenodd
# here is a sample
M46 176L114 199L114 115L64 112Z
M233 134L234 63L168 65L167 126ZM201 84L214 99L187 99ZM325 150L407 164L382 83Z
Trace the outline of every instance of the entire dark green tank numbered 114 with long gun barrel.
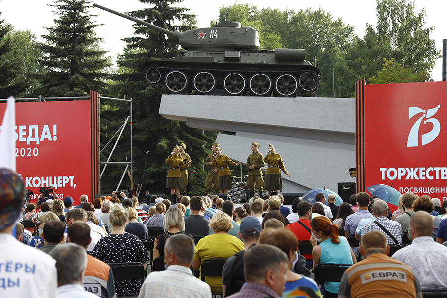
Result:
M104 6L93 6L124 17L179 43L178 56L147 60L140 68L162 94L210 94L295 97L318 88L320 69L305 60L304 49L262 50L258 30L239 22L214 27L170 31Z

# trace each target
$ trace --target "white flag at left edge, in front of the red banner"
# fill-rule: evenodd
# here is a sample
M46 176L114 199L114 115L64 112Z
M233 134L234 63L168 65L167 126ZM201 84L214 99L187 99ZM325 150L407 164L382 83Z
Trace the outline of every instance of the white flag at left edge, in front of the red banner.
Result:
M15 98L10 96L0 127L0 168L16 172L15 162Z

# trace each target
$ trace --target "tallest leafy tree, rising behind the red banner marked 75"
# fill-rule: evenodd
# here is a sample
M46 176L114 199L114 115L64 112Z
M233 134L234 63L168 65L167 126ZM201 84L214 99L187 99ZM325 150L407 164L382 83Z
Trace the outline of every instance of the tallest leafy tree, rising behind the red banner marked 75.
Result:
M395 59L403 68L429 73L440 57L430 38L434 27L425 27L425 10L415 11L413 0L378 0L376 28L367 24L363 39L356 39L348 65L357 78L371 78L382 69L383 58Z

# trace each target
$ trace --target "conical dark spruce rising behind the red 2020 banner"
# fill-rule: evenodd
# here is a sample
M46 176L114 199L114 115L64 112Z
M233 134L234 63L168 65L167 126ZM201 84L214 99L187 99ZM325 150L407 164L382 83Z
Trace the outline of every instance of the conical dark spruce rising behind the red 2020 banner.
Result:
M39 63L46 72L37 77L41 86L32 94L84 96L106 86L110 62L99 47L101 39L94 32L98 25L87 12L90 5L89 0L56 0L51 5L59 18L55 26L47 28L49 33L42 35L46 42L38 45L44 53Z

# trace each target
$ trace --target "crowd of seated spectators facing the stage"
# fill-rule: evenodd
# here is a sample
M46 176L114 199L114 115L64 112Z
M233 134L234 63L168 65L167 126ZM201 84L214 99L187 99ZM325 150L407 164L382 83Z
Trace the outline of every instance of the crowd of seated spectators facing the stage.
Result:
M179 195L172 204L152 196L140 207L136 197L113 193L93 203L83 195L76 206L71 197L54 196L40 209L34 203L23 209L17 177L0 170L0 248L6 255L20 253L10 261L14 271L0 271L0 291L11 297L23 296L25 285L39 291L35 297L64 298L211 297L212 292L231 298L421 297L422 291L447 288L439 262L447 257L447 200L406 193L391 213L385 201L366 193L340 206L335 196L326 200L320 193L313 205L296 198L291 208L281 195L255 196L243 206L213 195ZM17 218L36 228L15 224ZM148 251L142 240L151 231L157 235ZM360 244L351 247L355 242L348 239ZM302 242L311 252L301 255ZM397 247L392 255L390 246ZM114 280L109 264L140 262L150 272L151 254L164 258L166 270L149 273L143 283ZM222 277L202 282L202 262L209 259L227 261ZM340 282L318 285L309 269L330 263L352 266Z

